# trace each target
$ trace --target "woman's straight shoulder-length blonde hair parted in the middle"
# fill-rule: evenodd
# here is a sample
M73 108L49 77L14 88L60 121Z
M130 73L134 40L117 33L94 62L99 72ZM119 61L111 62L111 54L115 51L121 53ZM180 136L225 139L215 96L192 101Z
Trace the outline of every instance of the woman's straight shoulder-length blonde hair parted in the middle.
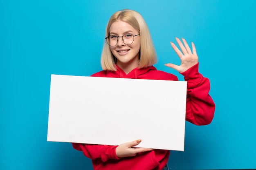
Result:
M140 51L139 51L139 66L138 68L145 68L152 66L157 62L157 55L151 39L148 26L142 16L133 10L124 9L117 11L108 20L106 27L106 37L109 35L110 26L113 22L123 21L130 24L140 34ZM115 56L110 50L107 42L104 42L101 53L101 67L103 70L116 71Z

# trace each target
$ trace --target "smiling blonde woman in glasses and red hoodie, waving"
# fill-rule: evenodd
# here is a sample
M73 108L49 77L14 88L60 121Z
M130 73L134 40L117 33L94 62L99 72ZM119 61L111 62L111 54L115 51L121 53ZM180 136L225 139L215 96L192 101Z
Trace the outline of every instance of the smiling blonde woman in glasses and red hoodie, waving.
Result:
M142 16L125 9L114 13L106 27L106 42L101 54L103 71L95 77L178 80L173 74L157 71L157 55L150 32ZM171 42L181 64L165 64L184 75L187 86L186 120L196 125L211 123L215 104L209 96L209 79L198 73L195 45L176 38L181 51ZM125 108L124 108L125 109ZM120 113L122 110L120 110ZM119 146L72 144L92 159L94 170L168 170L168 150L134 148L140 139Z

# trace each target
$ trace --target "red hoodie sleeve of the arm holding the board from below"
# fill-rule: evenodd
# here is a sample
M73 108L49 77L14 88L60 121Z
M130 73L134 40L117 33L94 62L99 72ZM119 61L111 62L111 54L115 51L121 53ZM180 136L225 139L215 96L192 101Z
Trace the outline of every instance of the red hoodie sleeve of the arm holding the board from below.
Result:
M120 159L116 155L117 146L76 143L72 143L72 146L74 149L82 151L86 157L92 160L101 159L101 161L106 162L108 159Z

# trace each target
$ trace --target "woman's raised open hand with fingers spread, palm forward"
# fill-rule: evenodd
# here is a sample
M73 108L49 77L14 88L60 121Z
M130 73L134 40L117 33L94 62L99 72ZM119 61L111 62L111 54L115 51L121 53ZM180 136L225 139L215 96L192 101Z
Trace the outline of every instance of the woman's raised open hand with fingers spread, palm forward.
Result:
M192 51L191 51L191 49L189 48L189 45L186 43L186 40L184 38L182 38L184 45L182 44L179 38L176 38L176 41L180 46L181 51L177 48L177 46L173 42L170 42L170 43L174 51L180 57L180 61L181 61L180 66L177 66L171 63L164 64L164 65L182 73L198 63L198 55L196 54L195 44L193 42L191 42L191 45L192 45Z

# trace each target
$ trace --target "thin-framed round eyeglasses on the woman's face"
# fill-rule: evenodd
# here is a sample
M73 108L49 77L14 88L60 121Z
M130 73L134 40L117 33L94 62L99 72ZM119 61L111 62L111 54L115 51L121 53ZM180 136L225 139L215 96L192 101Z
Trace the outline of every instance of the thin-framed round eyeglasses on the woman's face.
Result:
M137 34L139 35L139 34ZM122 37L122 40L124 42L124 44L126 45L130 45L132 44L132 42L134 41L134 37L136 37L137 35L132 35L130 33L128 34L124 34L123 36L117 36L117 35L109 35L108 37L106 37L106 41L108 43L109 46L115 46L117 45L118 42L118 38Z

